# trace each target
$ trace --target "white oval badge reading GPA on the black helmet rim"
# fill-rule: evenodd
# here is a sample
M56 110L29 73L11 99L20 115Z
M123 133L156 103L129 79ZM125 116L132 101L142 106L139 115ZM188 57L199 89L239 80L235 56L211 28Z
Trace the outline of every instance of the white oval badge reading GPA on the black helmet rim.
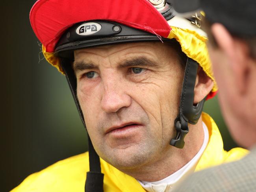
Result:
M101 25L95 22L83 23L76 28L78 35L91 35L101 30Z

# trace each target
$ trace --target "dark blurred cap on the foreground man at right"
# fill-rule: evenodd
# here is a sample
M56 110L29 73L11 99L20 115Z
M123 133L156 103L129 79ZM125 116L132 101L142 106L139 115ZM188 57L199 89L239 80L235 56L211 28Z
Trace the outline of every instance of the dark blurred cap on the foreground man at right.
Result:
M256 36L256 0L173 0L173 7L180 14L203 10L233 35Z

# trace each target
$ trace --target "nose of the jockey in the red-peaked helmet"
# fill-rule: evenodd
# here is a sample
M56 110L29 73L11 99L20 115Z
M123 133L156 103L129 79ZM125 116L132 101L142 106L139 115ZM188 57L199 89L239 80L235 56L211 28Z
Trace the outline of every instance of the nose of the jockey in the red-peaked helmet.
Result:
M132 99L127 94L127 87L119 80L111 78L103 83L101 108L106 113L115 113L122 107L131 105Z

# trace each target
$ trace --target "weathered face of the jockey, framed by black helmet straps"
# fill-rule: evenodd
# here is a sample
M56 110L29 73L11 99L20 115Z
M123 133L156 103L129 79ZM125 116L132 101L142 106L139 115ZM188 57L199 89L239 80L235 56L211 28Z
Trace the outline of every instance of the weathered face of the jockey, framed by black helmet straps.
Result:
M130 43L74 51L77 95L98 155L126 169L167 158L183 70L168 44Z

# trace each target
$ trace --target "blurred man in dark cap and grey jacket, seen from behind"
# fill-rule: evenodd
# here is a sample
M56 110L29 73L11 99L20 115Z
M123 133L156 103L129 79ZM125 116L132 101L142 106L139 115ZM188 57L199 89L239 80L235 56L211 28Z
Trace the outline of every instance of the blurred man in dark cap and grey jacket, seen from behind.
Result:
M255 191L256 2L179 0L175 3L177 12L191 11L182 9L184 3L204 10L208 47L219 83L219 101L224 118L234 140L251 150L239 161L194 174L177 191ZM241 14L237 15L237 10L242 10Z

